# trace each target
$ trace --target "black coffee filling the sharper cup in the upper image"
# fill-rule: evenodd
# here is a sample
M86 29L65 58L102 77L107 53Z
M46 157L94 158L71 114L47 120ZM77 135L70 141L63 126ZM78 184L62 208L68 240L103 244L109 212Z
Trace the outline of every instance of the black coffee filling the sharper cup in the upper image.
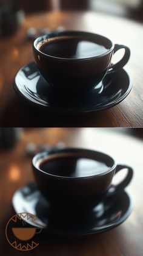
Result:
M39 49L44 54L67 59L94 57L108 51L102 44L95 43L83 35L50 38L42 43Z

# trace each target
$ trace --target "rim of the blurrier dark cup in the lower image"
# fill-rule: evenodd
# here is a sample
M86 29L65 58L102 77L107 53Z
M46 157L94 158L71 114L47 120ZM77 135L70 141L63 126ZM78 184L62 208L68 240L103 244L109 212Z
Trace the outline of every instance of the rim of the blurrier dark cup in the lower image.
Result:
M54 154L58 154L60 152L63 152L63 153L66 153L66 151L70 151L70 152L88 152L90 154L98 154L98 155L102 155L104 157L107 157L108 159L110 158L110 160L113 162L113 165L111 167L108 168L107 171L105 172L102 172L101 174L95 174L95 175L91 175L91 176L84 176L84 177L70 177L70 176L58 176L58 175L55 175L55 174L51 174L51 173L48 173L48 172L45 172L45 171L42 171L42 169L39 168L39 166L36 165L37 161L38 160L43 160L44 158L47 159L48 156L50 155L54 155ZM93 151L93 150L90 150L90 149L83 149L83 148L65 148L65 149L58 149L56 152L53 152L51 154L49 154L49 152L47 151L43 151L43 152L39 152L38 154L35 155L35 157L33 157L32 159L32 166L33 168L36 169L36 171L39 171L41 172L42 174L45 174L46 176L50 176L50 177L53 177L55 179L64 179L64 180L85 180L85 179L93 179L95 177L100 177L100 176L104 176L106 174L108 174L109 172L113 171L113 169L116 168L116 162L115 160L110 156L110 155L107 155L103 152L99 152L99 151Z

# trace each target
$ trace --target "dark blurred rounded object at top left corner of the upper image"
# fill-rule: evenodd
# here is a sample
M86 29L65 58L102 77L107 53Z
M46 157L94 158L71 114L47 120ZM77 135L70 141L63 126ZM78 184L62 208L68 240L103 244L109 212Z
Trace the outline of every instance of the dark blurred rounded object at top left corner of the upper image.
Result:
M2 35L12 35L24 21L24 11L18 8L17 1L0 0L0 30Z

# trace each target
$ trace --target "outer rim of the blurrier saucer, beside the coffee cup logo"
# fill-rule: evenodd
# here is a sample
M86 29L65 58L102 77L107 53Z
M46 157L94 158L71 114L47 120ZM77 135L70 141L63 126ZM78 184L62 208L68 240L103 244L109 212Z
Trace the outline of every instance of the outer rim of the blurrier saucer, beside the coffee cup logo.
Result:
M17 214L18 214L18 212L16 211L16 207L15 207L15 203L14 203L16 195L18 193L20 193L21 190L24 187L30 186L30 185L33 185L33 184L36 184L36 182L29 182L29 183L27 183L27 185L22 186L21 188L16 190L15 193L13 194L12 206L13 206L13 209L15 210L15 212ZM99 229L99 230L95 230L95 231L93 230L93 231L90 231L90 232L71 232L71 231L70 232L68 232L68 231L62 232L62 230L53 230L52 231L52 229L48 229L48 228L45 228L44 230L46 231L46 233L50 233L50 234L53 234L53 235L86 236L86 235L93 235L93 234L98 234L98 233L104 233L104 232L110 231L112 229L115 229L116 227L121 225L131 215L131 212L133 211L133 202L131 200L130 195L127 193L126 190L122 190L120 193L124 193L128 197L128 208L127 208L126 212L124 213L124 215L121 218L119 218L118 221L116 221L116 222L110 223L107 226L102 226L102 228Z

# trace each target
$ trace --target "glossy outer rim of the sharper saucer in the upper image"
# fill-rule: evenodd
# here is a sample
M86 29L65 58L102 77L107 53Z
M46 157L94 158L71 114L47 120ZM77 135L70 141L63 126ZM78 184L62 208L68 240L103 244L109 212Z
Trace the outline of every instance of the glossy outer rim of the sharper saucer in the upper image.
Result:
M44 103L38 102L38 101L36 101L36 99L34 100L32 98L28 98L27 95L22 93L21 90L19 90L18 86L16 85L16 77L18 76L19 72L24 67L26 67L27 65L30 65L32 63L35 63L35 61L27 63L26 65L22 66L22 68L20 68L18 70L18 72L16 73L16 75L15 75L15 77L13 79L13 88L15 89L16 93L18 93L19 96L21 96L21 98L24 99L24 101L27 101L29 104L32 104L35 107L46 109L50 113L62 113L62 114L71 114L71 115L72 114L73 115L81 115L82 114L82 115L84 115L84 114L88 114L88 113L90 114L90 113L99 112L99 111L102 111L102 110L108 110L109 108L113 108L116 105L118 105L119 103L121 103L122 101L124 101L124 99L127 98L128 94L130 93L130 91L131 91L131 89L133 87L133 82L132 82L131 77L128 75L127 71L125 71L124 68L121 68L121 69L118 69L117 71L115 71L115 73L119 72L121 70L124 71L126 73L127 77L128 77L128 81L129 82L128 82L127 90L125 91L125 93L119 99L110 101L108 104L102 105L101 107L97 107L96 106L96 107L93 107L93 108L90 108L90 109L85 109L85 110L79 110L78 108L73 110L73 109L69 109L69 108L67 109L67 108L63 108L63 107L52 107L50 105L45 105ZM35 63L35 65L36 65L36 63ZM41 76L40 73L39 73L39 76Z

